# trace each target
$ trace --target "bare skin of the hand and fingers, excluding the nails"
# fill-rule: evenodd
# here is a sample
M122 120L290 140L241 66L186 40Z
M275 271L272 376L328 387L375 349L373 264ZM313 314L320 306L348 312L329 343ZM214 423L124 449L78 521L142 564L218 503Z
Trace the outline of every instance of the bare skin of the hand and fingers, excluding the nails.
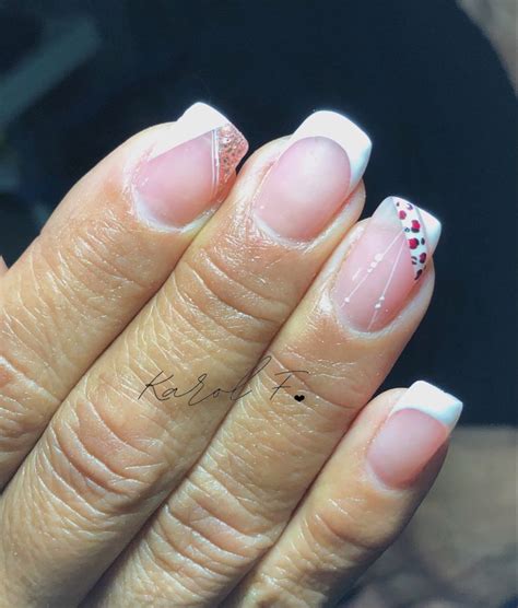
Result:
M278 140L217 211L163 230L134 212L128 175L164 128L94 167L0 270L0 605L320 606L432 483L386 488L363 455L397 394L365 406L433 265L387 327L357 331L330 294L364 230L363 184L316 238L264 230L252 207ZM203 395L227 391L161 400L144 391L161 371L177 393L203 374Z

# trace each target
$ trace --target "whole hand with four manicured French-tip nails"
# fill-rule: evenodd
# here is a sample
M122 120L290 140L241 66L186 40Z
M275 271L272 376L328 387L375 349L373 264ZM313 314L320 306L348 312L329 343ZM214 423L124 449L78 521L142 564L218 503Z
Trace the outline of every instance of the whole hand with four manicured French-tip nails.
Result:
M368 401L440 224L396 197L356 223L370 142L338 114L236 179L246 150L196 104L0 271L2 606L321 606L429 489L461 404Z

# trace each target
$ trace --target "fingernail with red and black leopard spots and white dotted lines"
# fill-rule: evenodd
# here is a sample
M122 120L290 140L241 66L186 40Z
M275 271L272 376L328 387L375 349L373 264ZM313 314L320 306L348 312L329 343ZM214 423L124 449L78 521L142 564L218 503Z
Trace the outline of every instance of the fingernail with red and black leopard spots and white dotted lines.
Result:
M361 331L385 327L403 308L440 236L440 222L389 197L368 221L337 276L333 297L344 321Z

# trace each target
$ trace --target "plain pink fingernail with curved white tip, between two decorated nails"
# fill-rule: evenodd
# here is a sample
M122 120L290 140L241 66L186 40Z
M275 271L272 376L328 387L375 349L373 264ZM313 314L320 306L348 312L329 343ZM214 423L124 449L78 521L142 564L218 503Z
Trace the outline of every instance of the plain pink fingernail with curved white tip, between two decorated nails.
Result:
M266 176L254 201L256 218L282 237L314 238L357 186L370 148L345 116L313 114Z

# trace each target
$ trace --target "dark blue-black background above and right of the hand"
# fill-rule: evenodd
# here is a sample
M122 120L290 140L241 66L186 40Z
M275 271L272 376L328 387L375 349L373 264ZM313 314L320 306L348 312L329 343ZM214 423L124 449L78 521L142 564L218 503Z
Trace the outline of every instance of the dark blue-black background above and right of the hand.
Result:
M0 253L136 131L195 101L250 148L330 108L374 142L370 213L389 194L443 222L432 307L389 377L516 422L516 97L452 0L0 0Z

